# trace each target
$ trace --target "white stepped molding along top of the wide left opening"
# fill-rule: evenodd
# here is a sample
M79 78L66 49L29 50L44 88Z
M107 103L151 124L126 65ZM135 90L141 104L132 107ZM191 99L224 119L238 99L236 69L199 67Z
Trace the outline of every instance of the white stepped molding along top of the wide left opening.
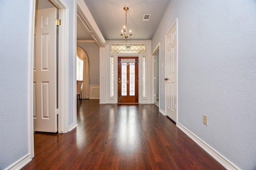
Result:
M99 47L106 47L106 40L104 39L98 25L94 21L92 14L83 0L77 1L77 19ZM77 40L77 42L78 41L80 40Z

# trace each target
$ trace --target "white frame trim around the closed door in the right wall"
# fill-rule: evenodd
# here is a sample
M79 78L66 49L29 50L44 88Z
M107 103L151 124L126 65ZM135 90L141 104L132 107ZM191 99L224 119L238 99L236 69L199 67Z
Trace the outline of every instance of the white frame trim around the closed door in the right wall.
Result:
M177 84L177 88L176 88L176 124L178 123L178 18L176 18L176 21L174 21L174 23L170 26L170 29L168 29L168 31L165 34L165 50L164 50L164 55L165 55L165 63L167 62L167 56L166 56L166 36L168 34L168 32L171 31L172 27L174 27L174 25L176 24L176 84ZM165 66L164 69L164 77L166 78L166 72L167 72L167 67ZM167 101L166 101L166 82L164 83L164 100L165 100L165 115L167 116Z

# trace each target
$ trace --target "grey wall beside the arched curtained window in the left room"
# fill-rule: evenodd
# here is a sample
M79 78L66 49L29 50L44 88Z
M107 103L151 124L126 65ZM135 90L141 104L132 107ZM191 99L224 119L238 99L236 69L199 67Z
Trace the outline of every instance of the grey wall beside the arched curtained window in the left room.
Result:
M90 84L100 84L100 47L96 43L77 43L89 58Z

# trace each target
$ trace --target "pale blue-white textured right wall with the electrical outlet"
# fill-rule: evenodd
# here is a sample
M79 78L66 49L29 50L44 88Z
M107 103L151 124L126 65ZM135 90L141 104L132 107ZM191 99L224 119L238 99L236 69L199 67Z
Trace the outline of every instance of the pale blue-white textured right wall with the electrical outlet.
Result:
M178 122L246 170L256 169L255 9L255 0L170 1L152 39L164 47L178 18Z

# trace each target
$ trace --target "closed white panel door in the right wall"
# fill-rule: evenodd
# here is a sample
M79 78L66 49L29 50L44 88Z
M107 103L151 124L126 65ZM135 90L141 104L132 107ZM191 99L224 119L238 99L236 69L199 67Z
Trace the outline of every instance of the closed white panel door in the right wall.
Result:
M176 22L166 34L166 115L177 121L177 40Z

